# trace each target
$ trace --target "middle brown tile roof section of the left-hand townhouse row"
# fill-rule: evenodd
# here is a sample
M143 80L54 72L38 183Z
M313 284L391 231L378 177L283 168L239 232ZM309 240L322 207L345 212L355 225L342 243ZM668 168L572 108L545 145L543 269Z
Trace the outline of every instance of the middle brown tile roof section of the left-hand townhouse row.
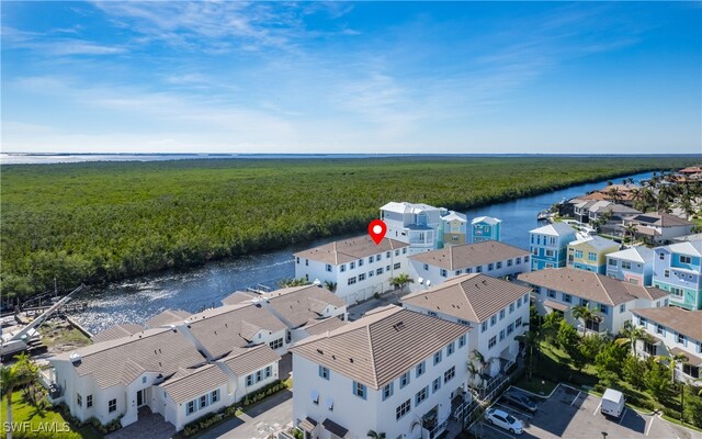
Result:
M203 311L188 318L190 333L215 358L227 356L235 348L256 344L260 330L278 333L287 327L261 305L225 305Z

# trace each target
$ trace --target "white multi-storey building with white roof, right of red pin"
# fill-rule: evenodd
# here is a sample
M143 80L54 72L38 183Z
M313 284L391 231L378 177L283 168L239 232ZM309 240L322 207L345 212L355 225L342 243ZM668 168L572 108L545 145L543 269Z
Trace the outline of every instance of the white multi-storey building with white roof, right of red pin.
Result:
M381 207L386 237L409 245L410 255L443 247L442 211L428 204L390 202Z

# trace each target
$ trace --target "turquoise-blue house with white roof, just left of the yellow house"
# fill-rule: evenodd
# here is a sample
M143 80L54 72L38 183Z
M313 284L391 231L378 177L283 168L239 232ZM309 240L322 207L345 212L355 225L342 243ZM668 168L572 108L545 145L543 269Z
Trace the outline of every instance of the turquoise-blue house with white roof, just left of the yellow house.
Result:
M576 229L566 223L553 223L529 232L531 270L566 266L568 244L576 239Z

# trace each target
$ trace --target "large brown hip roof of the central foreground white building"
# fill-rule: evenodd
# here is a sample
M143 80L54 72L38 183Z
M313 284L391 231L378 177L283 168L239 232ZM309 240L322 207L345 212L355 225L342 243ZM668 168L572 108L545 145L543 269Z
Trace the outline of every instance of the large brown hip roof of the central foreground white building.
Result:
M291 351L377 390L469 329L389 305Z

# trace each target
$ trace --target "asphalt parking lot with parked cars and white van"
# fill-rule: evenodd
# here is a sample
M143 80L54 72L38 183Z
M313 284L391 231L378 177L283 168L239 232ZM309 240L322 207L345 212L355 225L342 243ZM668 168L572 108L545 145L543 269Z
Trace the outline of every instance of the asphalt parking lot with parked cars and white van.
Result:
M539 402L535 414L521 412L501 401L494 405L524 423L524 432L519 438L599 439L604 437L604 432L608 439L702 439L700 432L675 426L658 416L642 415L629 407L620 419L607 418L600 413L599 397L564 385L558 386L548 399L534 399ZM486 439L516 437L486 421L476 423L471 430Z

